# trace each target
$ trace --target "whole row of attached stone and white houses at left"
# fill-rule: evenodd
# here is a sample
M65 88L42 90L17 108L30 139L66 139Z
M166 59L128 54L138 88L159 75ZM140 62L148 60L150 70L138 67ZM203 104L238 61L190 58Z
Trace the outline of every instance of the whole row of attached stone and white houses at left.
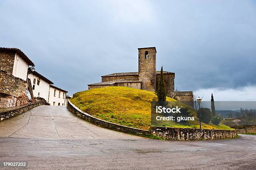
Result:
M27 78L31 80L34 97L44 98L50 105L66 105L67 91L53 86L52 81L32 71L33 66L34 63L20 49L0 47L0 107L17 105L16 98L26 95L25 89L30 89Z

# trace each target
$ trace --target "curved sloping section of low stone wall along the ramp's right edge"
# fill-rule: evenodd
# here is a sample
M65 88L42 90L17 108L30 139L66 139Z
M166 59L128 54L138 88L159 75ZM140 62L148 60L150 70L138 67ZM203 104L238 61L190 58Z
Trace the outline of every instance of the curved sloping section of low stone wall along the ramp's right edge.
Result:
M77 115L77 117L85 119L86 121L91 122L92 124L95 124L100 127L105 127L108 129L119 131L119 132L126 132L126 133L133 133L133 134L146 134L146 135L151 134L151 132L147 130L123 126L120 124L111 123L111 122L93 117L90 114L82 112L82 110L80 110L78 107L72 104L69 100L68 100L67 108L69 109L70 112Z

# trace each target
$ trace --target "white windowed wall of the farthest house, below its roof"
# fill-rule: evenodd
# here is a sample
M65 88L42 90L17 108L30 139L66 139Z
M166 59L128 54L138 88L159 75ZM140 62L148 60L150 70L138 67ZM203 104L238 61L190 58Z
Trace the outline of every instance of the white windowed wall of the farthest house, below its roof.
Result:
M55 106L58 106L58 104L60 103L60 106L66 106L66 93L64 91L60 91L58 89L56 89L56 96L54 96L54 87L50 87L50 97L49 97L49 104L51 106L54 106L54 102L55 102ZM59 91L61 92L60 97L59 97ZM63 93L64 93L64 99L63 99Z

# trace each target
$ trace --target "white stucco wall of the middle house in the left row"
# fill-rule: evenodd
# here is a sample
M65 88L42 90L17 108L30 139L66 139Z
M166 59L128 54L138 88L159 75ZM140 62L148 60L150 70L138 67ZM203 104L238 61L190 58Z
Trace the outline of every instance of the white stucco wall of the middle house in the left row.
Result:
M50 84L44 81L43 79L40 79L39 86L37 85L37 79L39 78L36 75L28 74L28 78L31 80L31 85L33 87L33 81L36 79L35 89L33 89L33 95L35 97L38 97L38 92L40 93L40 97L44 98L46 101L48 101L49 96L49 86Z

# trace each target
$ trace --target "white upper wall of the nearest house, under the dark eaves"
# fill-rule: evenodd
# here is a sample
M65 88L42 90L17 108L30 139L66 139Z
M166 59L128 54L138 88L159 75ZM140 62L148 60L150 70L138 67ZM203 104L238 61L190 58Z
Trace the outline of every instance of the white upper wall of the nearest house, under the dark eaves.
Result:
M17 53L15 54L13 64L13 76L26 81L28 72L28 63L24 61Z

